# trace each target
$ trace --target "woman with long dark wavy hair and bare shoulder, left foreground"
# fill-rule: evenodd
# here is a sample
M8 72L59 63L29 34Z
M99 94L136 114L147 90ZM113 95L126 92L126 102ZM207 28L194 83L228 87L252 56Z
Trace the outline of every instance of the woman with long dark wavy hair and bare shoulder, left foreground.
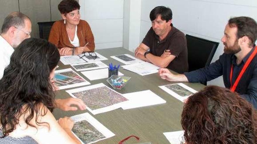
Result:
M51 113L59 59L58 49L43 39L26 39L15 49L0 80L0 143L80 143L72 120L57 122Z

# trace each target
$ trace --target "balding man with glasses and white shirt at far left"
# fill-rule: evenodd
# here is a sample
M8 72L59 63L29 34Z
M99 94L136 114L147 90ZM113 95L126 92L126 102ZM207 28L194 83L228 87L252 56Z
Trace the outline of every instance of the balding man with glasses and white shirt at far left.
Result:
M13 12L4 19L0 36L0 79L5 67L10 63L14 48L26 38L30 38L30 33L31 21L26 15Z

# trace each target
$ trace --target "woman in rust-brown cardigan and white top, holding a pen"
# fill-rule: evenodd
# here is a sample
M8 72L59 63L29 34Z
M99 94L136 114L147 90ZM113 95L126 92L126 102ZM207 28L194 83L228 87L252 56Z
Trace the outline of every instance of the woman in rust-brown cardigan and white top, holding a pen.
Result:
M60 55L94 51L94 36L89 24L80 19L79 3L75 0L63 0L58 9L63 20L53 24L48 41L58 47Z

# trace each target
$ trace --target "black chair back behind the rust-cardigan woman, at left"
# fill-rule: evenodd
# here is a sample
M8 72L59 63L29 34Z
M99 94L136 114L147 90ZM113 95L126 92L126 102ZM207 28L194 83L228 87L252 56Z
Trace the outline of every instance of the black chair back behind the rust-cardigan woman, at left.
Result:
M38 22L39 26L39 38L48 40L51 27L54 22Z

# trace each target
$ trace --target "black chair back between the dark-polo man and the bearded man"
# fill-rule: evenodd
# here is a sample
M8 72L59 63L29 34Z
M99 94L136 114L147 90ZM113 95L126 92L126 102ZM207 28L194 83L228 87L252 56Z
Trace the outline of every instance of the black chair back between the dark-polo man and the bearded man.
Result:
M186 35L189 72L210 65L219 42Z

